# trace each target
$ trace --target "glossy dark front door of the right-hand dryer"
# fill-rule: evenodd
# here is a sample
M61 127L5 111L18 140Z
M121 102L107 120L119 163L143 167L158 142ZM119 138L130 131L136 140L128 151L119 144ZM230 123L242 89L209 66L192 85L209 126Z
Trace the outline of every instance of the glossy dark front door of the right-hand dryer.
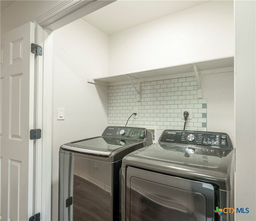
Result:
M126 221L212 221L211 184L127 168Z

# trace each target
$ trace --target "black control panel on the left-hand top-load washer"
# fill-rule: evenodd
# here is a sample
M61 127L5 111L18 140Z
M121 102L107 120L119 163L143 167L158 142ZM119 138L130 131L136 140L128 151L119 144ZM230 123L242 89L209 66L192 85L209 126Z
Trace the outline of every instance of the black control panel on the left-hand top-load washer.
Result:
M115 138L131 138L131 139L145 139L146 129L136 127L107 127L102 136L115 137Z

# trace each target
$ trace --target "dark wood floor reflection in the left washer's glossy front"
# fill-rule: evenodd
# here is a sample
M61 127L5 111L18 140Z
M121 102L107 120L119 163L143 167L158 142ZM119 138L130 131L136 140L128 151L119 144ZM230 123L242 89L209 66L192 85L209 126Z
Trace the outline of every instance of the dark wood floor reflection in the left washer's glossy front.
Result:
M110 221L110 193L74 175L73 221Z

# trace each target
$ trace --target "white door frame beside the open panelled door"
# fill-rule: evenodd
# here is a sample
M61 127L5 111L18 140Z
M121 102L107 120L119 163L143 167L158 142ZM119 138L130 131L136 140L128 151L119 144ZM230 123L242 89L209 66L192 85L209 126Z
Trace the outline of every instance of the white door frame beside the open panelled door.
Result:
M34 20L36 44L43 47L43 55L35 60L35 128L42 129L42 138L35 147L34 213L41 220L51 220L51 170L52 170L52 77L53 51L51 33L75 20L90 14L115 0L67 0Z

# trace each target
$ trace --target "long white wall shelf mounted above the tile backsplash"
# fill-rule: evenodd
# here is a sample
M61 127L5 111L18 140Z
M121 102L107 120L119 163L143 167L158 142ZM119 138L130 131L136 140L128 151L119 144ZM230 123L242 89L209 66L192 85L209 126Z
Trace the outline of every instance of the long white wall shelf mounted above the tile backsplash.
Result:
M194 75L197 76L198 83L200 85L200 75L203 71L227 67L234 67L234 57L88 79L88 83L112 86L130 83L128 76L135 78L140 82L146 82Z

